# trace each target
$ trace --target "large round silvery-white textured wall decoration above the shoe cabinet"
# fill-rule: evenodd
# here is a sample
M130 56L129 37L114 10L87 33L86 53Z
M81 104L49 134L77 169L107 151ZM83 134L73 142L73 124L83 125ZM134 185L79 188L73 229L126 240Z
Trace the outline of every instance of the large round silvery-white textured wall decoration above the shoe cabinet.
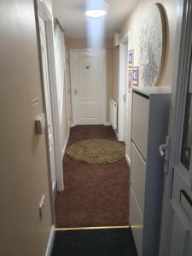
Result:
M139 84L157 85L166 51L166 22L159 3L151 4L143 15L139 37Z

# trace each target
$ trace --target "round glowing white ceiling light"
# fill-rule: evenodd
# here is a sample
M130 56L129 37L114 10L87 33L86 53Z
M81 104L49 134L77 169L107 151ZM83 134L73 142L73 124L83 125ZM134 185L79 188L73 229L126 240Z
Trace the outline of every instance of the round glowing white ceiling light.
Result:
M91 18L100 18L107 15L108 3L102 0L90 1L87 3L85 15Z

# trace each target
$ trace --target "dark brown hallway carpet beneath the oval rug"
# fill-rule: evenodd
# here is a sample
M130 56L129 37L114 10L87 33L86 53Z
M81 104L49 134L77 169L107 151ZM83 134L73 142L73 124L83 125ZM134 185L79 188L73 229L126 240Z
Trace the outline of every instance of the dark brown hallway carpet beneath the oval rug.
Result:
M83 139L116 140L113 129L79 125L71 129L68 145ZM128 224L129 167L125 159L91 165L63 160L65 190L55 199L56 227L119 226Z

